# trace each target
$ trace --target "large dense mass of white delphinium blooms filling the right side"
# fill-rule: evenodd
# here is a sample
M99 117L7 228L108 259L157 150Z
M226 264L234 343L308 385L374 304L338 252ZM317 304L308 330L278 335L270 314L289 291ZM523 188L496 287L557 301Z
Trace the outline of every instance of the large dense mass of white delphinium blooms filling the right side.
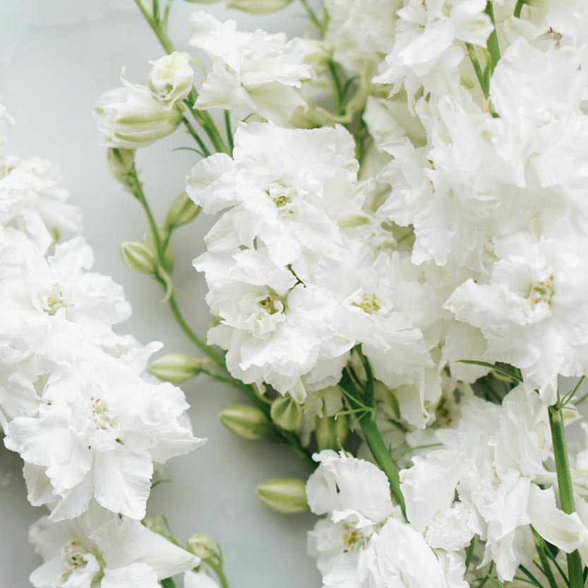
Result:
M107 144L184 121L206 155L190 116L212 143L186 178L218 215L194 260L208 343L268 393L275 424L331 448L307 485L327 515L309 541L325 588L498 584L538 555L541 582L560 585L551 557L577 588L586 455L570 474L563 418L577 412L558 376L588 374L585 2L304 4L322 40L194 13L190 44L212 66L172 52L148 88L107 92ZM333 451L348 432L335 415L380 468ZM242 436L274 431L267 416Z

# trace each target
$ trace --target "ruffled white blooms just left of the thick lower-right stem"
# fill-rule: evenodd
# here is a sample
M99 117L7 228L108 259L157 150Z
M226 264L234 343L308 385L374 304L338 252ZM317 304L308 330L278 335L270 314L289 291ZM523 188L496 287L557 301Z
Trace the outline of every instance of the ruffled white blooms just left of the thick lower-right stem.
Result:
M436 436L444 448L400 472L407 518L429 545L457 551L477 534L486 541L483 563L493 560L500 580L512 580L534 558L530 524L566 553L585 543L577 515L565 515L553 488L535 482L551 445L539 395L521 385L502 406L470 397L457 424Z

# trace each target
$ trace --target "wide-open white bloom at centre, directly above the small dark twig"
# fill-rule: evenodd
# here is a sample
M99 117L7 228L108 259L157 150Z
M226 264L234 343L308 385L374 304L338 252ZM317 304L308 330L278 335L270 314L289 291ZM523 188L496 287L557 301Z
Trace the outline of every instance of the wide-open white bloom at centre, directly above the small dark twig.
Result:
M280 265L303 255L342 259L340 224L363 215L354 149L341 126L239 125L233 159L212 155L187 178L188 196L205 212L229 208L205 237L209 251L252 247L257 238Z

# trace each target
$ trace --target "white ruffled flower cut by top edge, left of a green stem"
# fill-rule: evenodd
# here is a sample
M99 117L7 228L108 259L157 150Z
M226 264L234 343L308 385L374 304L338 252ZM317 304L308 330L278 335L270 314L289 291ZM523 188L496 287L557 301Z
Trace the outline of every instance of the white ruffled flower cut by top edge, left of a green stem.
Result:
M435 95L456 92L464 58L460 42L485 46L493 30L484 8L485 0L405 1L397 12L394 47L373 81L392 84L392 94L404 85L409 107L421 85Z

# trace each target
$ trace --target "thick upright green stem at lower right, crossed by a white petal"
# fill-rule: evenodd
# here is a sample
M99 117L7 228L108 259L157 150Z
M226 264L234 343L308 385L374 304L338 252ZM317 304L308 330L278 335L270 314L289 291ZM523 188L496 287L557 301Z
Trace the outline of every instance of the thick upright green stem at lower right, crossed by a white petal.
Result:
M575 512L574 488L572 486L572 475L570 474L570 464L568 462L568 448L565 443L565 430L563 426L563 416L560 402L548 408L549 426L551 428L551 440L553 441L553 456L556 462L556 473L558 476L558 488L560 495L561 509L567 515ZM568 557L568 576L570 579L570 588L582 588L584 580L582 577L582 560L580 553L572 551L567 554Z

